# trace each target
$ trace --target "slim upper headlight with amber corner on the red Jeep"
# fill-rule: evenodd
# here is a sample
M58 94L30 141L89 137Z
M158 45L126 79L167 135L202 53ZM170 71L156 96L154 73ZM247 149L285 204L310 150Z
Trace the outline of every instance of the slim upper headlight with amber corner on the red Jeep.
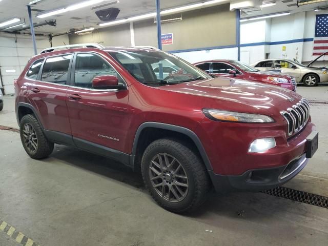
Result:
M232 121L244 123L270 123L273 118L262 114L238 113L217 109L203 109L203 113L210 119L218 121Z

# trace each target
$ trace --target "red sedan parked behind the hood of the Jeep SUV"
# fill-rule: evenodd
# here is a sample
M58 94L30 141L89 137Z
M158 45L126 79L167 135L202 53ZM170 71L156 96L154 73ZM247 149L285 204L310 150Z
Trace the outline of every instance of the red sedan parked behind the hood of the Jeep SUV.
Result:
M207 60L200 61L194 65L210 74L238 77L296 91L296 80L294 76L284 75L274 71L259 71L237 60Z

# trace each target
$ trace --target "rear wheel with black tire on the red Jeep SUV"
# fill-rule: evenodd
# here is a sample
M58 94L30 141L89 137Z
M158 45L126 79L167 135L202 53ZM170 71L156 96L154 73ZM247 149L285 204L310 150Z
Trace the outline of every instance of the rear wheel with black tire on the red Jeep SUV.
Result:
M42 159L49 156L54 148L53 142L50 142L44 132L42 131L41 125L34 115L27 114L22 120L20 120L20 140L22 140L23 147L26 153L33 159ZM27 134L26 127L31 129L32 134ZM31 127L31 128L30 128ZM34 133L33 133L34 132ZM27 136L27 137L26 137ZM34 136L34 137L33 137ZM33 140L33 145L27 143L28 138ZM36 142L35 142L36 138ZM36 146L36 147L35 147ZM34 149L34 150L33 150Z

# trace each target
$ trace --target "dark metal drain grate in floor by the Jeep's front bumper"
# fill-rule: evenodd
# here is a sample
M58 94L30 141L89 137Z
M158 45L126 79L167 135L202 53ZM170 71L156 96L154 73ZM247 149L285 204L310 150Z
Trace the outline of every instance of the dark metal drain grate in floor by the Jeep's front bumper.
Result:
M316 195L304 191L298 191L285 187L277 187L275 189L262 191L262 192L272 196L278 196L293 201L299 201L299 202L328 209L328 197L325 196L320 196L320 195Z

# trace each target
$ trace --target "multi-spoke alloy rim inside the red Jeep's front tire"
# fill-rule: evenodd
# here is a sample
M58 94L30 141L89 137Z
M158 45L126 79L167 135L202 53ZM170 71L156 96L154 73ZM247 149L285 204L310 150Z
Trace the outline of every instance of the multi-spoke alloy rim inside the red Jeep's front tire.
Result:
M163 199L180 202L186 198L189 181L185 169L172 155L155 155L149 166L149 176L153 188Z

